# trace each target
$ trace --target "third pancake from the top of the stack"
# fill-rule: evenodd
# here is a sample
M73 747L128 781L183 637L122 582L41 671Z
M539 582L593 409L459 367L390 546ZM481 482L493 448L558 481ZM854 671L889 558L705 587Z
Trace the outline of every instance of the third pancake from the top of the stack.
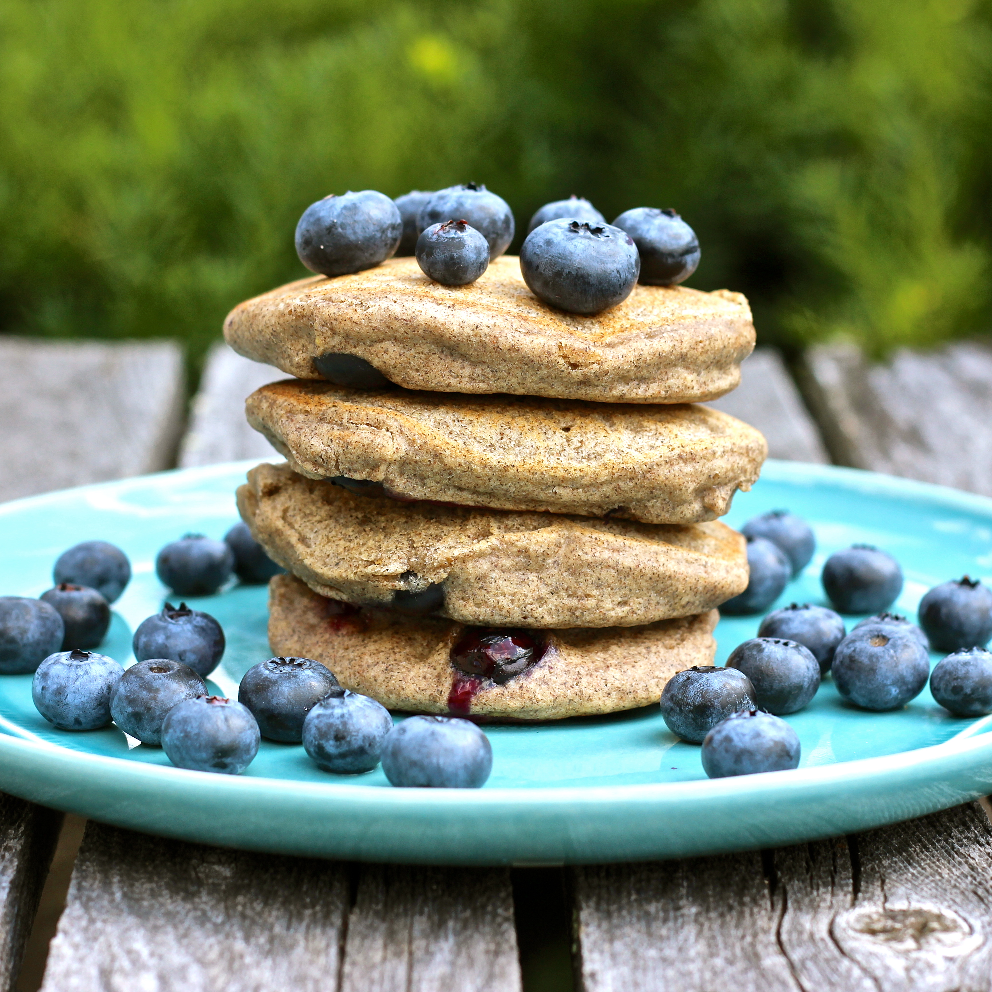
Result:
M261 464L238 510L332 599L469 624L629 627L702 613L748 582L743 537L687 526L400 503Z

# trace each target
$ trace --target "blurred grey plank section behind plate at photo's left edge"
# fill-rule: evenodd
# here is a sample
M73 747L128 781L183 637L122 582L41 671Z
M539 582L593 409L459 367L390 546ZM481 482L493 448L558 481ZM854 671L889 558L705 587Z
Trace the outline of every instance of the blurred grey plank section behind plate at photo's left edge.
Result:
M173 342L0 337L0 500L167 468L183 419Z

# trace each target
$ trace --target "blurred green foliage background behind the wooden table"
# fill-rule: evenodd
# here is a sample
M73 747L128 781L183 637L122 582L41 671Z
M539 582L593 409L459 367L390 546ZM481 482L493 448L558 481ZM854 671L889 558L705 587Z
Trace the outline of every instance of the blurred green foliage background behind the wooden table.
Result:
M987 328L975 0L0 0L0 330L176 335L304 275L312 200L675 206L765 341ZM519 244L519 238L518 238Z

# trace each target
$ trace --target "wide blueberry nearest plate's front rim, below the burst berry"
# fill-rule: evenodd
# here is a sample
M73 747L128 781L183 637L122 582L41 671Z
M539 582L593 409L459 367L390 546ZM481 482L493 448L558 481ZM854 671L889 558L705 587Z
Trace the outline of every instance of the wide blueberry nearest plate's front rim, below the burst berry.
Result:
M382 770L394 786L479 789L492 767L489 739L456 716L411 716L382 747Z

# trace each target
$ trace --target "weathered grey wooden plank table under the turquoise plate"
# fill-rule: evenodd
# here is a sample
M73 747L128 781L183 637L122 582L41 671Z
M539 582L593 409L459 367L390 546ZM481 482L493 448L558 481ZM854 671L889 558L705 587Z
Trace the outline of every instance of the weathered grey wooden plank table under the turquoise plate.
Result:
M223 346L211 353L178 454L174 345L8 340L0 358L4 346L12 357L0 361L0 397L18 418L7 423L36 433L30 445L23 434L0 436L3 463L28 466L0 484L7 498L177 457L272 456L244 426L241 405L278 376ZM58 386L53 368L71 377L80 361L100 388L87 390L85 429L71 434L64 410L46 426L42 399ZM901 353L887 366L820 348L792 372L803 399L780 357L759 351L741 390L716 405L764 431L777 457L823 461L829 452L992 493L984 346ZM46 448L53 432L58 457ZM66 822L63 859L78 827ZM60 813L0 796L0 992L15 988L61 827ZM36 943L41 930L39 922ZM992 988L990 937L992 826L980 803L776 850L546 869L344 864L89 822L43 988L952 992Z

